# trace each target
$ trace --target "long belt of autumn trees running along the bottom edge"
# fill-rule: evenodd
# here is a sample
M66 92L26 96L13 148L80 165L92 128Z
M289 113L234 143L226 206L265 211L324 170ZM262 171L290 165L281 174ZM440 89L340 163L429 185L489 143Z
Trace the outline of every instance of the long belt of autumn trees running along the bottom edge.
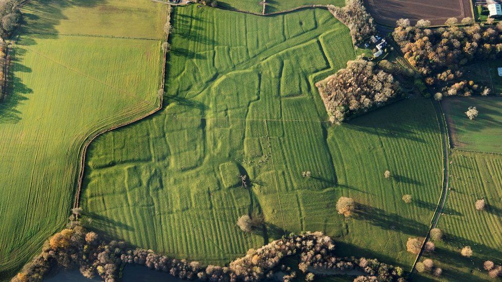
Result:
M42 253L18 273L12 282L42 281L54 270L80 269L88 278L99 275L104 281L117 281L127 264L138 264L168 272L182 279L202 281L259 281L281 275L291 281L296 271L314 276L332 272L356 272L354 281L405 281L403 270L376 259L337 257L335 242L320 232L290 234L259 249L250 249L243 257L231 261L228 267L203 266L197 261L169 258L152 250L132 249L124 242L107 241L71 221L69 226L52 236ZM298 270L281 265L286 257L297 256Z

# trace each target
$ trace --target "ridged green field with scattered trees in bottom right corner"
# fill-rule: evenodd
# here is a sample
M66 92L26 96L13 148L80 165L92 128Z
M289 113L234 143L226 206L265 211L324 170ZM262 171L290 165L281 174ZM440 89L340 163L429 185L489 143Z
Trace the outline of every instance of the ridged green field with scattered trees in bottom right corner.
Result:
M500 264L502 257L502 155L454 151L451 161L451 190L439 223L445 238L428 257L446 280L487 280L483 262ZM479 199L485 199L483 211L475 208ZM471 257L460 255L464 246L472 248Z

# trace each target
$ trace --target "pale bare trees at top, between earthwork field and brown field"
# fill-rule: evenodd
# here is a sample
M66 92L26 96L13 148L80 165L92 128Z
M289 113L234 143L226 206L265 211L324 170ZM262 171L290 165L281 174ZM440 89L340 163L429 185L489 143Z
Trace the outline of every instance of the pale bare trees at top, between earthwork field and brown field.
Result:
M366 11L362 0L347 0L345 7L328 5L328 10L350 29L354 43L359 44L375 34L373 18Z

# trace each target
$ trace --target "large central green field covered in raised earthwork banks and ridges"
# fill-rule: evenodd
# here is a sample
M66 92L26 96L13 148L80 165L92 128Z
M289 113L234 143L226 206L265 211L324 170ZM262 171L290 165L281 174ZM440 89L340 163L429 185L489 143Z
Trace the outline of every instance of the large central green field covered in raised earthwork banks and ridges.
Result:
M355 53L323 9L259 17L192 5L174 8L172 25L163 110L89 147L87 227L218 264L290 232L324 231L347 255L409 269L405 242L425 236L441 190L432 103L325 122L314 83ZM359 203L357 216L336 213L340 196ZM266 228L243 233L243 214L263 214Z

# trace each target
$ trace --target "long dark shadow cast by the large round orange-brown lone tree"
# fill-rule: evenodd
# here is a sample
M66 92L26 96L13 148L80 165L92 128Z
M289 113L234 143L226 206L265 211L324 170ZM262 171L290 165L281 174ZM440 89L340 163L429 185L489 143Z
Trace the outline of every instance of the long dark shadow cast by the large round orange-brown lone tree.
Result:
M428 226L423 223L366 204L358 203L355 213L354 219L368 221L385 230L395 230L411 236L424 236L428 230Z

